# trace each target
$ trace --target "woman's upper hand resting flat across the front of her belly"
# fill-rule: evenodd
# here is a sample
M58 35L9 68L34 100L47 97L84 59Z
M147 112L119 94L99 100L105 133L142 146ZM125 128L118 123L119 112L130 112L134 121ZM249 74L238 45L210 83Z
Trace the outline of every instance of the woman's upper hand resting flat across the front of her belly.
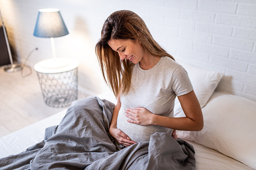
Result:
M143 107L138 107L136 109L127 109L125 116L129 118L127 120L130 123L139 124L139 125L151 125L153 113Z

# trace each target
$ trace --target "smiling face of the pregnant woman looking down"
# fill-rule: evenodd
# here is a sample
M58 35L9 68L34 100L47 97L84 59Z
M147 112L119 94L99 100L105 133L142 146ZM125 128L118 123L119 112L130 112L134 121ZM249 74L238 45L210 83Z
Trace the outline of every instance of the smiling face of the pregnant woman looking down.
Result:
M139 63L144 57L144 48L139 40L109 40L108 45L116 51L121 60L130 60L134 64Z

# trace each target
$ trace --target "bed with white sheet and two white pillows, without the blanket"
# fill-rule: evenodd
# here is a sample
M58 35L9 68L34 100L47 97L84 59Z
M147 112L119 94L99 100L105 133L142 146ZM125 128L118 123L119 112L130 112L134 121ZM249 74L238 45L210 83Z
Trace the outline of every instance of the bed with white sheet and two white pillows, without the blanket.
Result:
M221 74L181 63L187 70L204 115L199 132L177 131L195 149L196 169L256 169L256 102L216 91ZM111 92L98 96L111 102ZM45 129L58 125L67 109L0 138L0 158L18 154L40 142ZM175 100L174 116L184 113Z

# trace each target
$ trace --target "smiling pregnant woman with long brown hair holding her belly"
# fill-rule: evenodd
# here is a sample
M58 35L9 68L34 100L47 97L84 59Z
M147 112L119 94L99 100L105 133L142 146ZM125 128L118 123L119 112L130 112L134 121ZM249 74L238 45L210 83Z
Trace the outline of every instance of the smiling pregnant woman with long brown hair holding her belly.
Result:
M95 50L103 77L117 97L109 132L118 143L127 147L149 141L155 132L175 136L175 130L203 128L187 72L159 46L137 14L111 14ZM185 117L173 117L176 96Z

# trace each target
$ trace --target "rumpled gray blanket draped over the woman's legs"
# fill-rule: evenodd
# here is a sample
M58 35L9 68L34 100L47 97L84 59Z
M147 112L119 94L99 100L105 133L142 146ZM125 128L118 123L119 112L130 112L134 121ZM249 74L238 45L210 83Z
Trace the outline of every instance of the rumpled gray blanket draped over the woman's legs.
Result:
M195 151L182 139L155 133L130 147L109 134L114 104L98 97L72 103L58 126L26 151L0 159L0 169L194 169Z

